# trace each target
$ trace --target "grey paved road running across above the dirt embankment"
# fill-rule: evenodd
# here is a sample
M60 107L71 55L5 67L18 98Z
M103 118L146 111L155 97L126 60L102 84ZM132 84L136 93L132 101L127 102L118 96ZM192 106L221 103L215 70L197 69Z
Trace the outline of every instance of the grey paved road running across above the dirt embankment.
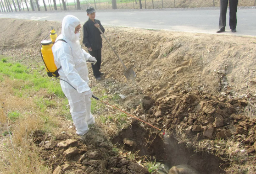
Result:
M120 11L98 11L96 19L107 26L125 26L147 29L164 29L179 32L198 32L217 34L219 9L165 9L165 10L120 10ZM62 21L63 17L72 14L77 16L81 23L88 20L85 11L67 12L16 12L0 13L0 17L29 19L29 20L48 20ZM228 21L224 34L234 34L238 36L256 37L256 9L243 9L237 11L238 25L237 32L229 30ZM227 12L229 19L229 11Z

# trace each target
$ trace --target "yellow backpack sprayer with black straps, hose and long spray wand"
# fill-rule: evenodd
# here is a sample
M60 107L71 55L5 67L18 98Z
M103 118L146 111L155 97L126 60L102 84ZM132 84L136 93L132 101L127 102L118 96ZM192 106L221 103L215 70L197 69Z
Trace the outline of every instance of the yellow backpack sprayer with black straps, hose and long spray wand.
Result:
M45 40L48 36L50 35L50 39L51 40ZM66 42L65 40L63 39L58 39L56 41L56 38L57 38L57 34L56 34L56 31L54 30L53 26L51 26L51 31L49 32L49 34L45 37L45 39L43 41L41 41L41 50L40 50L40 53L41 53L41 57L42 57L42 60L43 62L45 63L45 69L46 69L46 72L47 72L47 75L48 77L55 77L56 79L60 79L60 80L63 80L61 78L58 78L60 75L58 73L58 70L61 68L57 68L56 67L56 64L54 63L54 57L53 57L53 53L52 53L52 49L51 47L53 46L54 43L58 42L58 41L62 41L62 42ZM55 42L56 41L56 42ZM67 43L67 42L66 42ZM86 61L86 62L91 62L91 61ZM66 80L63 80L65 82L67 82ZM67 82L68 83L68 82ZM70 83L68 83L73 89L75 89ZM75 89L77 90L77 89ZM95 99L95 100L99 100L107 105L110 105L109 103L105 102L105 101L102 101L100 100L98 97L96 97L95 95L92 95L92 97ZM110 105L114 108L116 108L117 110L119 111L122 111L121 109L117 108L116 106L113 106L113 105ZM139 120L139 121L142 121L146 124L148 124L149 126L151 127L154 127L155 129L157 129L158 131L160 132L163 132L163 135L165 134L165 132L162 130L162 129L159 129L139 118L137 118L136 116L133 116L125 111L122 111L123 113L129 115L129 116L132 116L134 117L135 119Z

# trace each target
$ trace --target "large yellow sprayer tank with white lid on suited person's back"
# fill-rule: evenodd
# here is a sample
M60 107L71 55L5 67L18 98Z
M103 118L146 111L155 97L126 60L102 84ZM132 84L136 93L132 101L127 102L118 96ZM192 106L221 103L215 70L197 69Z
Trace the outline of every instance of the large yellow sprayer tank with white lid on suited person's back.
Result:
M53 53L51 50L53 43L51 40L43 40L41 42L41 45L42 45L41 53L45 62L45 69L46 69L47 75L49 77L52 77L52 73L54 73L57 70L57 67L54 63ZM56 76L56 74L53 74L53 75Z

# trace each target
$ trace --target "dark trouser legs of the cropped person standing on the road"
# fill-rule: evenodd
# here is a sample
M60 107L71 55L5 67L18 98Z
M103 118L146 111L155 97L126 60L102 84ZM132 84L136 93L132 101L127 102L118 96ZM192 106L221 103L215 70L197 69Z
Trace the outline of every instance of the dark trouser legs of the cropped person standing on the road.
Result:
M238 0L229 0L229 27L234 30L236 28L236 11ZM220 21L219 29L225 30L226 27L226 15L228 8L228 0L220 0Z

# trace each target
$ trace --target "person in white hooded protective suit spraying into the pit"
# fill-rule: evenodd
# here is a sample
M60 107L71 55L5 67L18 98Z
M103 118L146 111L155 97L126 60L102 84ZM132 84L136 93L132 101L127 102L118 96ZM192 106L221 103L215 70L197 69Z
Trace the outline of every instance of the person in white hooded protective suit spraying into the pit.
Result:
M80 21L77 17L65 16L62 21L61 35L57 37L52 52L56 67L61 67L58 71L61 79L66 80L76 89L60 80L61 89L70 105L70 113L77 134L83 136L89 130L88 125L95 123L91 114L92 91L89 88L86 60L94 63L97 60L81 48L80 28ZM58 39L63 39L67 43L58 41Z

